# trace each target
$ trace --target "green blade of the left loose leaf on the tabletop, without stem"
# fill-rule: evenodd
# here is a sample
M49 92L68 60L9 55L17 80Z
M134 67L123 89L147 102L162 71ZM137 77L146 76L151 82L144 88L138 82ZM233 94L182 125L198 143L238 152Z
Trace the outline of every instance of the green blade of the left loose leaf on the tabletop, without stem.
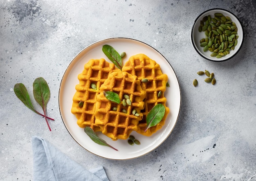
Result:
M15 84L13 90L16 96L20 99L20 101L22 101L22 103L25 104L25 106L27 106L32 111L36 112L36 110L34 109L31 103L31 99L29 97L29 93L27 92L27 88L25 87L24 84L22 83Z

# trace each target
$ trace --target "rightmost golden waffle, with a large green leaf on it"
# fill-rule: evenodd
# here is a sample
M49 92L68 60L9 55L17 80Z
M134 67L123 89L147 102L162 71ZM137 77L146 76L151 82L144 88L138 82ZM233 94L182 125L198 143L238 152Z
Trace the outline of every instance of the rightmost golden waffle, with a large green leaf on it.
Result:
M137 132L145 136L150 136L164 125L165 119L169 113L169 108L166 107L166 98L164 97L168 77L166 74L162 74L159 64L144 54L131 56L125 63L122 71L136 75L139 80L144 78L148 79L147 83L141 83L142 89L146 91L146 98L144 100L145 109L141 110L144 116L142 120L139 121L139 129ZM162 94L161 96L157 97L159 91L161 91ZM147 125L146 116L150 110L159 103L163 104L165 107L164 117L156 126L150 127L146 132L144 132Z

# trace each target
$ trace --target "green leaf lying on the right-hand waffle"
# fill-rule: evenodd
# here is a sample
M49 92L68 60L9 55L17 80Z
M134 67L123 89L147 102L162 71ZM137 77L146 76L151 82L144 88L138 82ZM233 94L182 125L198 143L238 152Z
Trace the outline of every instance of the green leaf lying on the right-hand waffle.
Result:
M146 132L146 130L148 130L148 128L157 125L164 117L164 113L165 113L164 105L162 105L162 104L155 105L150 110L150 112L148 113L148 115L146 117L147 126L146 126L144 132Z

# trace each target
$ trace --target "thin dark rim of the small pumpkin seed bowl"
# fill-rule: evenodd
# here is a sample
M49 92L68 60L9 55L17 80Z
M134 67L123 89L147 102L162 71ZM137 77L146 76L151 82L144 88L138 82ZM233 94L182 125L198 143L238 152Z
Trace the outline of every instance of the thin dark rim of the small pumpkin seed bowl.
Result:
M227 61L227 60L233 58L233 57L238 53L238 51L240 51L240 49L241 49L241 47L242 47L242 45L243 45L243 42L244 42L244 36L243 36L243 38L242 38L241 45L240 45L240 47L238 48L238 50L236 51L236 53L234 53L232 56L230 56L229 58L227 58L227 59L225 59L225 60L219 60L219 61L218 61L218 60L211 60L211 59L207 58L206 56L203 56L203 55L198 51L198 49L196 48L195 43L194 43L194 41L193 41L193 31L195 30L195 29L194 29L194 27L195 27L195 22L196 22L196 21L200 18L200 16L202 16L204 13L206 13L206 12L208 12L208 11L212 11L212 10L227 11L228 13L231 13L233 16L235 16L236 19L238 20L238 22L239 22L240 25L241 25L241 28L242 28L242 31L243 31L242 34L244 34L243 25L242 25L241 21L238 19L238 17L237 17L234 13L232 13L232 12L226 10L226 9L213 8L213 9L208 9L207 11L202 12L202 13L195 19L194 24L193 24L192 29L191 29L191 42L192 42L192 45L193 45L195 51L197 51L198 54L199 54L200 56L202 56L202 58L204 58L204 59L206 59L206 60L209 60L209 61L212 61L212 62L224 62L224 61Z

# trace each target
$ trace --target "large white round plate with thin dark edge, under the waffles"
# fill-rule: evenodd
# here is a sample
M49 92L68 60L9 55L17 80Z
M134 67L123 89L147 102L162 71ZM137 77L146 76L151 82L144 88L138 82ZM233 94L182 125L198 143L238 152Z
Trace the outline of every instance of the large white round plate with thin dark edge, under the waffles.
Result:
M115 147L118 151L115 151L110 147L94 143L88 137L88 135L85 134L84 129L80 128L76 124L76 117L71 113L72 98L76 92L75 86L76 84L79 84L77 76L83 71L84 64L92 58L104 58L110 62L102 51L102 46L106 44L114 47L119 54L124 51L126 52L126 57L123 59L123 65L130 56L141 53L146 54L149 58L155 60L161 66L162 72L168 75L168 83L170 84L170 87L166 88L166 92L164 94L167 98L166 104L170 109L170 113L166 118L166 123L160 130L149 137L138 134L137 132L132 132L132 135L140 141L140 145L131 146L128 144L127 140L112 141L107 136L97 132L99 137ZM164 56L162 56L153 47L130 38L110 38L101 40L83 49L67 67L61 80L59 89L59 109L67 131L70 133L73 139L86 150L107 159L133 159L154 150L164 142L169 134L171 134L178 119L180 107L180 85L171 65L164 58Z

